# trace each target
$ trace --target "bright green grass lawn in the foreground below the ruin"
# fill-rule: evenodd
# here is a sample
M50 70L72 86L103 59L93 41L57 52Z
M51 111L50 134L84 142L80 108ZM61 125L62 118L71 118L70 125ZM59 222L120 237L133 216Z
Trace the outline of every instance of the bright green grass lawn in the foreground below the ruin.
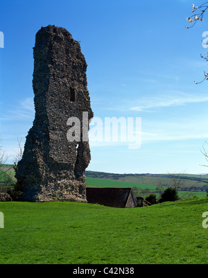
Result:
M1 264L207 264L207 198L135 209L0 202L0 211Z

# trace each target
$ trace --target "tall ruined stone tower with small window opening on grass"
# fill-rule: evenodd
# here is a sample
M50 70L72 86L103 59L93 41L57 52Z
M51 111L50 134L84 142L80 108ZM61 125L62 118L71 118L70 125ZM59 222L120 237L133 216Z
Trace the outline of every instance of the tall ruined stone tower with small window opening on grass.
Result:
M22 200L87 202L85 169L90 162L89 123L93 117L87 90L87 63L80 44L64 28L42 27L35 37L33 91L35 120L17 164ZM87 112L87 113L86 113ZM80 141L69 141L70 117L80 120Z

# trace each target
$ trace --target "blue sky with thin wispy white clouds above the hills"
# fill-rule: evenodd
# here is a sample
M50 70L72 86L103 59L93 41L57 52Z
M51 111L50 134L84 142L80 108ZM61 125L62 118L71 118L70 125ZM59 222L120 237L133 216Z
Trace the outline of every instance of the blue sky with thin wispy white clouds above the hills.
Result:
M199 6L201 1L194 2ZM87 61L94 116L141 117L141 147L90 142L87 170L111 173L207 173L207 64L200 53L208 14L194 28L189 0L1 0L0 134L12 162L17 138L33 125L35 33L66 28Z

